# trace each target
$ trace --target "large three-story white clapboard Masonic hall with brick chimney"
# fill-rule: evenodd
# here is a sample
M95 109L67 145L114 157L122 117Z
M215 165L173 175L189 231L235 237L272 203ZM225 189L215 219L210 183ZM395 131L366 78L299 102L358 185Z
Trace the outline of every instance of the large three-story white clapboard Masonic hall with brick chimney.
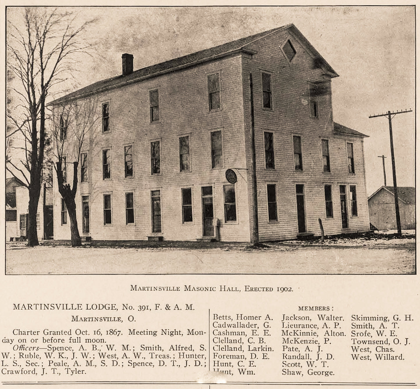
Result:
M82 236L250 241L255 213L262 241L320 235L318 219L369 230L365 135L333 122L338 74L293 24L136 71L122 58L121 75L51 103L60 126L70 102L95 98L102 117L81 150ZM54 237L70 239L56 178L54 195Z

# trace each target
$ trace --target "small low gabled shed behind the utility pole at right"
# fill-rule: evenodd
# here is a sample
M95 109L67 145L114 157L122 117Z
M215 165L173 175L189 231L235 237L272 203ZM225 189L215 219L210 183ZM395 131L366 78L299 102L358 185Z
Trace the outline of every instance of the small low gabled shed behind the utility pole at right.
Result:
M416 228L416 190L411 186L399 186L398 208L402 230ZM396 230L394 187L382 186L367 199L370 224L375 230Z

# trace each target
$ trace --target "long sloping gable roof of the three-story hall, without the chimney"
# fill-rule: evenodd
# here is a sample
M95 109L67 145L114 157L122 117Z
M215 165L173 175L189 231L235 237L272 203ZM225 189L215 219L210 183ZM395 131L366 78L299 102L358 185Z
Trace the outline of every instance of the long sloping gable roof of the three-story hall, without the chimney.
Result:
M234 53L239 52L248 52L250 54L255 54L251 50L247 50L247 46L259 39L268 37L269 35L276 33L278 31L289 29L292 34L304 45L307 46L310 52L314 57L320 59L323 68L327 73L331 75L331 77L338 77L338 74L328 65L327 61L318 53L317 50L310 44L310 42L302 35L302 33L294 26L294 24L288 24L286 26L277 27L275 29L271 29L268 31L260 32L258 34L251 35L249 37L244 37L240 39L236 39L232 42L220 44L215 47L211 47L209 49L201 50L194 52L192 54L184 55L182 57L175 58L173 60L165 61L158 63L156 65L148 66L146 68L142 68L139 70L134 71L133 73L108 78L102 81L95 82L89 86L86 86L82 89L74 91L66 96L60 97L59 99L55 99L51 102L51 105L60 104L65 101L69 101L72 99L76 99L79 97L89 96L94 93L98 93L101 91L106 91L109 89L118 88L127 84L131 84L134 82L139 82L145 80L147 78L159 76L165 73L171 73L177 70L181 70L184 68L188 68L190 66L194 66L200 63L204 63L207 61L215 60L221 57L225 57L227 55L231 55Z

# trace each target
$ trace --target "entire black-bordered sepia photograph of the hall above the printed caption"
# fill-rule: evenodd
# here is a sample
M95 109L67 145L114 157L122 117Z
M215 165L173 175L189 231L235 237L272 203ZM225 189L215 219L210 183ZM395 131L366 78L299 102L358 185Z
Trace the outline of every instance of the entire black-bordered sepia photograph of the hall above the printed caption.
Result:
M415 7L7 7L5 274L416 274Z

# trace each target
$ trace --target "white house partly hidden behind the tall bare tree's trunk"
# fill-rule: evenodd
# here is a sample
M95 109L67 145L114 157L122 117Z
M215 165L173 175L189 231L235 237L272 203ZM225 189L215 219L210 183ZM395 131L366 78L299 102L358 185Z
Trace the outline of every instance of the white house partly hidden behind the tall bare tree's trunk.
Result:
M29 191L17 178L6 178L6 241L26 239L28 225ZM14 205L14 206L13 206ZM53 188L42 185L38 202L38 240L53 236Z

